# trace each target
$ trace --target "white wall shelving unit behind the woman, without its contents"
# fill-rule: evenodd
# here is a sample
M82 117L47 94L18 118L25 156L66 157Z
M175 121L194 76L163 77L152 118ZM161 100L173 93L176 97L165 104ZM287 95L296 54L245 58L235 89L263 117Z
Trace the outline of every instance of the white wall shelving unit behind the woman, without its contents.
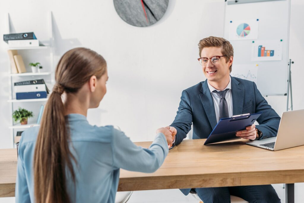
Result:
M8 50L19 50L18 52L20 52L20 55L22 55L22 57L27 56L28 60L33 60L33 57L36 55L36 53L39 53L39 57L45 59L48 61L50 61L49 65L44 64L44 66L50 67L49 69L40 69L40 71L43 71L41 73L32 73L32 72L26 72L26 73L12 73L11 70L11 66L7 66L7 71L5 73L6 76L8 76L7 78L9 79L9 97L7 98L7 101L9 102L9 115L7 116L8 119L10 120L9 125L7 126L9 131L10 131L10 137L11 137L11 141L12 141L12 147L16 147L16 145L14 144L14 140L17 141L18 138L20 138L20 136L16 136L14 135L14 131L18 131L20 129L21 130L25 130L29 127L31 127L31 125L34 126L38 126L38 124L28 124L28 125L21 125L21 124L15 124L12 118L12 114L14 112L14 110L16 110L16 107L18 105L22 105L23 106L27 106L27 108L31 108L31 110L38 112L39 111L39 107L40 104L45 104L46 101L48 100L48 98L39 98L39 99L16 99L16 94L14 92L14 82L19 82L19 81L25 81L25 80L34 80L34 79L41 79L41 77L50 77L50 85L52 86L52 84L54 84L54 38L53 38L53 15L52 12L49 12L48 17L47 17L47 21L46 22L41 22L41 20L39 21L40 23L43 23L48 25L48 29L46 30L47 34L44 37L45 40L41 41L43 43L44 46L26 46L26 47L9 47L7 46ZM7 13L6 15L6 32L5 33L15 33L15 29L12 29L14 26L12 24L12 19L10 18L9 13ZM35 22L33 22L35 23ZM26 27L29 27L30 30L36 30L33 29L37 26L39 26L38 24L36 25L33 23L29 23L29 25L27 25ZM31 26L31 24L33 24ZM38 57L38 55L37 55ZM36 59L35 59L36 60ZM40 60L40 59L37 59ZM41 59L42 60L42 59ZM25 60L27 61L27 60ZM30 70L28 70L30 71ZM19 77L18 77L19 76ZM30 79L31 78L31 79ZM26 103L24 103L26 102ZM29 103L28 103L29 102ZM30 103L32 102L32 103ZM40 103L39 103L40 102ZM35 121L32 121L35 122Z

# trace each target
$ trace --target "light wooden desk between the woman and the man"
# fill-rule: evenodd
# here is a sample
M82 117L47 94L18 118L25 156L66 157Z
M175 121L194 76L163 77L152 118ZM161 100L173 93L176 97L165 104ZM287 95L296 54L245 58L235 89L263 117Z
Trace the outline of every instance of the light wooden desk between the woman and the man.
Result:
M304 182L304 146L270 151L246 145L245 140L207 146L204 142L184 140L170 150L155 173L121 170L118 191L287 183L292 202L293 183ZM0 197L14 196L16 152L12 150L0 150Z

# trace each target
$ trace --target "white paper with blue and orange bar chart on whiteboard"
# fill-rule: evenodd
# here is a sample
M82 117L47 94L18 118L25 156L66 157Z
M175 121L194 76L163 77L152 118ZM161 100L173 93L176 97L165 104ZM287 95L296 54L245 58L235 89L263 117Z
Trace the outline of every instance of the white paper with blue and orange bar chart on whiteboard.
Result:
M282 60L280 40L259 40L252 43L252 61Z

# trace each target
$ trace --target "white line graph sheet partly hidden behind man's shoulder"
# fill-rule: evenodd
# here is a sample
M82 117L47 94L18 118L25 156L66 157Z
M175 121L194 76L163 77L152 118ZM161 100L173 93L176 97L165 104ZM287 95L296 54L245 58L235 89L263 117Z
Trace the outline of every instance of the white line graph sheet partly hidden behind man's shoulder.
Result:
M233 64L231 76L250 80L257 84L258 67L254 64Z

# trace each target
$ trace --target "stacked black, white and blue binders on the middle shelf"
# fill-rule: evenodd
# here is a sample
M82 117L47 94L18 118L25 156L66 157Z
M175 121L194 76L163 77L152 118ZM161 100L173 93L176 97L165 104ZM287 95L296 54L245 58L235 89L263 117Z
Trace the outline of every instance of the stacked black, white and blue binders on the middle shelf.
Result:
M15 82L14 91L16 99L47 98L49 93L49 89L43 79Z

